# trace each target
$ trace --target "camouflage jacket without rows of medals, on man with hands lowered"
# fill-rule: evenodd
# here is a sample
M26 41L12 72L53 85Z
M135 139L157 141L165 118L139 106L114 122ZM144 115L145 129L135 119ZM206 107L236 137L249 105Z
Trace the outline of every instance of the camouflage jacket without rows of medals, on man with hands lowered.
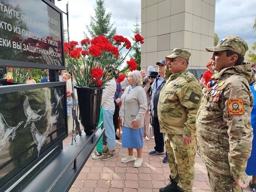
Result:
M157 114L161 132L194 137L201 97L201 86L188 69L170 74L158 101Z

